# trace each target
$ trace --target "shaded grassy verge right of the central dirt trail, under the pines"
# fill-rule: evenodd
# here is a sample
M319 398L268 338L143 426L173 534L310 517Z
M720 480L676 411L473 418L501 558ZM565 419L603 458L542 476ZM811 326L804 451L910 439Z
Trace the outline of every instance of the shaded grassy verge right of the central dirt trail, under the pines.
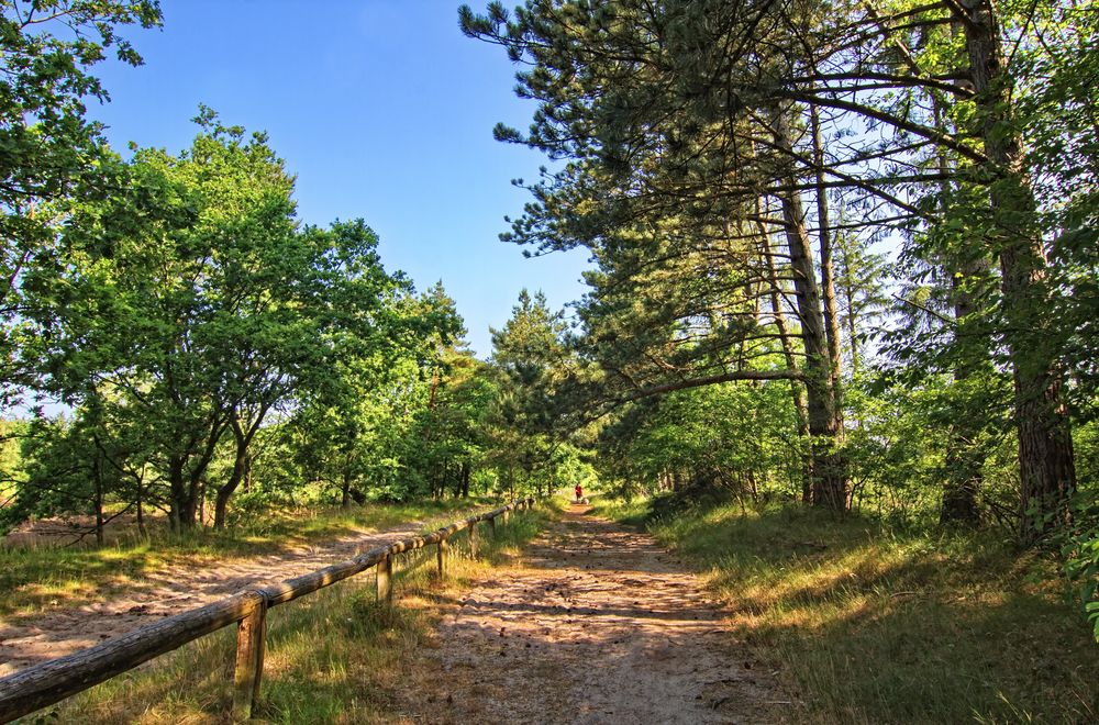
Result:
M1099 647L1056 562L992 534L734 504L647 527L784 673L798 722L1099 722Z

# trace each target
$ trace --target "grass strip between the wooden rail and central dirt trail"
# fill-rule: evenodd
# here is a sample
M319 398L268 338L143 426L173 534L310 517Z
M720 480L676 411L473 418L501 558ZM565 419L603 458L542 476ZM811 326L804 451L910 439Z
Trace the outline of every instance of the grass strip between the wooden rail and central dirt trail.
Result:
M518 556L554 515L513 514L496 538L481 525L477 559L466 534L455 537L447 577L433 573L434 549L399 561L395 601L375 601L375 577L358 577L268 614L259 720L270 723L388 723L400 717L402 672L430 646L435 602ZM25 722L226 722L234 628L187 645L153 663L109 680Z

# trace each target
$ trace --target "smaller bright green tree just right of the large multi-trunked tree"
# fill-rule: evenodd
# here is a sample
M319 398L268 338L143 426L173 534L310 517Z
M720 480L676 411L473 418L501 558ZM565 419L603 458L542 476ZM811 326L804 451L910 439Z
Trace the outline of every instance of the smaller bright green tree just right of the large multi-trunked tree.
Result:
M441 495L428 469L466 453L460 439L470 432L462 419L475 413L441 392L449 390L444 373L451 364L462 367L468 358L452 347L460 317L442 286L420 298L410 292L395 300L390 327L378 331L375 347L338 356L334 375L303 399L288 424L301 473L333 488L344 506L355 499Z

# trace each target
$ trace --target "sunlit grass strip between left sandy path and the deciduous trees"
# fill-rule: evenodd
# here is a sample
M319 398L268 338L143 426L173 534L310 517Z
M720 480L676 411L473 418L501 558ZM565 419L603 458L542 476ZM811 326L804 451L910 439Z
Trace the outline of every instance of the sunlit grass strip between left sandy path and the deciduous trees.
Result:
M410 521L449 522L456 512L488 500L447 499L414 504L368 504L287 511L214 531L123 536L101 548L0 548L0 617L26 617L53 607L106 601L127 584L169 566L202 568L257 554L287 551L312 542L390 528Z

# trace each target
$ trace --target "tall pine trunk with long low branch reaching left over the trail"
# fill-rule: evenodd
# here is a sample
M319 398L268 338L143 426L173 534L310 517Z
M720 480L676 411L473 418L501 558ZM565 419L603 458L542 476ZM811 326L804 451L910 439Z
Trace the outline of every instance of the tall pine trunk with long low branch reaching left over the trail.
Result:
M771 119L776 146L788 158L792 157L786 113L775 109ZM784 164L788 164L788 158L782 159ZM782 183L790 189L797 188L789 167L782 172ZM804 375L813 459L813 504L844 511L847 507L847 465L840 451L843 419L835 399L835 389L830 381L829 346L812 246L797 191L782 194L780 201L798 300L798 320L806 347Z

